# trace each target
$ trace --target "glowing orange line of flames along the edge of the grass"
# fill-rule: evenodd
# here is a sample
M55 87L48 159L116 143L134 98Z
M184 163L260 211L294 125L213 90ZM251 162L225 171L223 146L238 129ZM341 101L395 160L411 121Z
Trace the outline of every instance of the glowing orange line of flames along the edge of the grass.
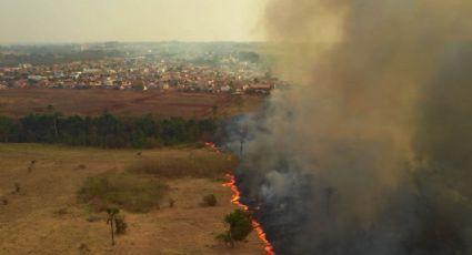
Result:
M221 153L220 149L218 149L218 146L214 143L207 142L204 144L207 146L209 146L210 149L212 149L215 153ZM229 156L228 159L230 160L231 156ZM242 210L249 212L249 206L241 203L241 192L238 188L234 174L229 173L229 174L227 174L227 176L229 177L230 181L228 183L224 183L223 186L230 187L231 191L233 192L231 203L233 203L233 204L238 205L239 207L241 207ZM265 234L264 230L262 228L262 225L254 218L252 218L252 227L254 227L254 231L258 233L259 239L261 239L262 243L264 244L264 249L265 249L267 254L268 255L275 255L273 246L269 242L267 234Z

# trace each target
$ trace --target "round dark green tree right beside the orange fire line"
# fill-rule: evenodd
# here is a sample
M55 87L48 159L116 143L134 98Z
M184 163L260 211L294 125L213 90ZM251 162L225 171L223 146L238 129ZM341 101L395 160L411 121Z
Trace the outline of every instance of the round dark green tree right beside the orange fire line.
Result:
M235 210L228 214L224 222L230 228L218 235L217 238L229 243L231 247L234 247L235 242L244 241L253 230L251 214L242 210Z

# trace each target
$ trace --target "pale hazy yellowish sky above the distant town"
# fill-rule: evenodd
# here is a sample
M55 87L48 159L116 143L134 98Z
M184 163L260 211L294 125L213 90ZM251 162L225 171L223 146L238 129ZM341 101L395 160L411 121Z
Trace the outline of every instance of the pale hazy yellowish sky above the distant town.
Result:
M0 43L250 41L267 0L0 0Z

